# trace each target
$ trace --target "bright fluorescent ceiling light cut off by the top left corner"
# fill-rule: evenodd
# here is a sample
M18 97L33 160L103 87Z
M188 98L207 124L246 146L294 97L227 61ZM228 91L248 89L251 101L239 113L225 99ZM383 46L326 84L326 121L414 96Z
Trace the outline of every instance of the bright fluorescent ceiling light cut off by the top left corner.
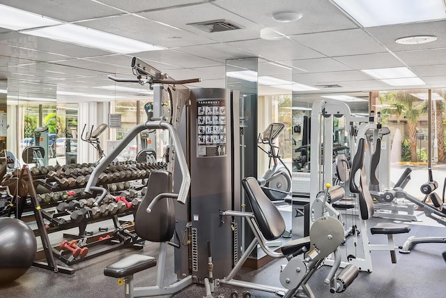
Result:
M23 30L36 27L53 26L62 22L49 19L42 15L0 4L0 27L10 30Z

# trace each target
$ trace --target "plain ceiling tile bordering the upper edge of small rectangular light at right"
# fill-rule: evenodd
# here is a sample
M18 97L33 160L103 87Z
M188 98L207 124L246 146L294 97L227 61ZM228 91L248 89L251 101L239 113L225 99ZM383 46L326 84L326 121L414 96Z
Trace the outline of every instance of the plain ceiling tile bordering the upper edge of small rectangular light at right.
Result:
M335 60L355 69L401 67L404 64L390 53L341 56Z

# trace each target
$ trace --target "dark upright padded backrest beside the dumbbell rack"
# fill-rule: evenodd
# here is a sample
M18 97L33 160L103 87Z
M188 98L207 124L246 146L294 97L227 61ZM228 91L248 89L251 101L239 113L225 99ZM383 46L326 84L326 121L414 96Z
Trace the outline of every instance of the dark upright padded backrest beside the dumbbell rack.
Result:
M147 192L134 216L134 229L138 236L153 242L169 241L175 232L174 199L162 198L151 213L146 209L160 193L171 193L172 174L166 170L151 172L147 182Z

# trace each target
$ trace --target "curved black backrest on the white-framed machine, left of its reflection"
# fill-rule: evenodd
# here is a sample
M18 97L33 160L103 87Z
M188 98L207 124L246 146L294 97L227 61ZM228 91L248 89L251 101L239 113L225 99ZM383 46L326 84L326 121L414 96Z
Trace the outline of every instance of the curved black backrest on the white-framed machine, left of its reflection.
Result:
M365 140L357 141L357 150L351 166L350 191L358 194L361 218L367 220L374 215L374 200L369 193L364 170ZM359 180L359 181L358 181Z

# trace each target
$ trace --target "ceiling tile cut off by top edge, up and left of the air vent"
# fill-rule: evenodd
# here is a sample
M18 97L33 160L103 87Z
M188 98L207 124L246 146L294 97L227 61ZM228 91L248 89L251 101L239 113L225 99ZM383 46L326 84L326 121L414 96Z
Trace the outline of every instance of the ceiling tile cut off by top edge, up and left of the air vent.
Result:
M143 10L161 10L162 8L175 7L175 6L185 6L190 3L200 3L213 2L214 0L151 0L151 1L122 1L122 0L100 0L100 2L105 3L109 6L114 6L116 8L121 8L123 10L129 11L130 13L135 13L137 11ZM162 13L162 12L160 12Z

